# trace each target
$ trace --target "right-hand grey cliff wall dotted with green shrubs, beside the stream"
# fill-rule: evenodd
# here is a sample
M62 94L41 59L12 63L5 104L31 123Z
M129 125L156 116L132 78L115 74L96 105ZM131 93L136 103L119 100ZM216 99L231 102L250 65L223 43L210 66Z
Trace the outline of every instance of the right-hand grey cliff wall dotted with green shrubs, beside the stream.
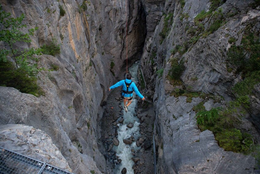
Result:
M249 105L229 103L237 101L235 84L241 84L246 74L240 71L241 65L231 62L243 59L239 57L243 54L233 49L242 49L250 33L259 43L259 4L232 0L143 2L147 19L153 19L147 20L141 66L150 93L154 93L157 172L257 172L252 156L224 151L211 131L200 131L196 112L220 106L225 111L231 109L240 116L242 129L259 143L259 81L251 83L254 85L248 89L252 92L243 93Z

